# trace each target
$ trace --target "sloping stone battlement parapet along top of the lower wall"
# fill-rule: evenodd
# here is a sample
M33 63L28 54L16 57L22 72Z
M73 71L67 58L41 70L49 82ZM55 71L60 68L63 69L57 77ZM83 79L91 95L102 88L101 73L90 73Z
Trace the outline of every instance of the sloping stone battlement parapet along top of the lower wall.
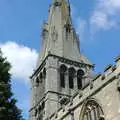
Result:
M116 58L115 65L107 65L102 74L97 74L88 86L80 91L76 91L73 98L71 98L66 105L62 105L61 108L49 116L47 120L62 120L68 114L73 114L74 109L78 108L83 101L92 97L113 81L117 81L116 90L120 91L120 56Z

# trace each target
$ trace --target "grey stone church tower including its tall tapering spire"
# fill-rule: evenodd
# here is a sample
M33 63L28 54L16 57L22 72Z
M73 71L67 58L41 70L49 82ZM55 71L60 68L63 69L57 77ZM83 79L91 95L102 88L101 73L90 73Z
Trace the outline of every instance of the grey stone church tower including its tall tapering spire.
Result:
M47 120L90 82L93 69L80 52L69 1L53 0L42 28L42 49L31 76L30 120Z

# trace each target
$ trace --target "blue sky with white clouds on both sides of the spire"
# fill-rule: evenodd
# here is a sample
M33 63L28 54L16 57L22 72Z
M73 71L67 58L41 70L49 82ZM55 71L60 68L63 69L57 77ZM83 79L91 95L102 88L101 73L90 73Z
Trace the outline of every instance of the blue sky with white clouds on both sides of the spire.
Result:
M30 83L41 26L52 0L0 0L0 47L11 62L12 89L28 119ZM102 72L120 55L120 0L70 0L81 51Z

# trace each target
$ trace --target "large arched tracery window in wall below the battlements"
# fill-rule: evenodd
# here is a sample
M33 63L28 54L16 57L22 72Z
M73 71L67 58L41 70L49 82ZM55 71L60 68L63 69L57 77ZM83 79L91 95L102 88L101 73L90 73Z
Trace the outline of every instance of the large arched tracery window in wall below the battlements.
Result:
M105 120L104 112L95 100L88 100L83 105L79 120Z

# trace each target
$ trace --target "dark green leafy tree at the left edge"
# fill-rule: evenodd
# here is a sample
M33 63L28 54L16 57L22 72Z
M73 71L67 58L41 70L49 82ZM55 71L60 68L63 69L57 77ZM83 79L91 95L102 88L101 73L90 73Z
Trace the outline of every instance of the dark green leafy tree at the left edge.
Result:
M0 50L0 120L23 120L11 91L10 63Z

